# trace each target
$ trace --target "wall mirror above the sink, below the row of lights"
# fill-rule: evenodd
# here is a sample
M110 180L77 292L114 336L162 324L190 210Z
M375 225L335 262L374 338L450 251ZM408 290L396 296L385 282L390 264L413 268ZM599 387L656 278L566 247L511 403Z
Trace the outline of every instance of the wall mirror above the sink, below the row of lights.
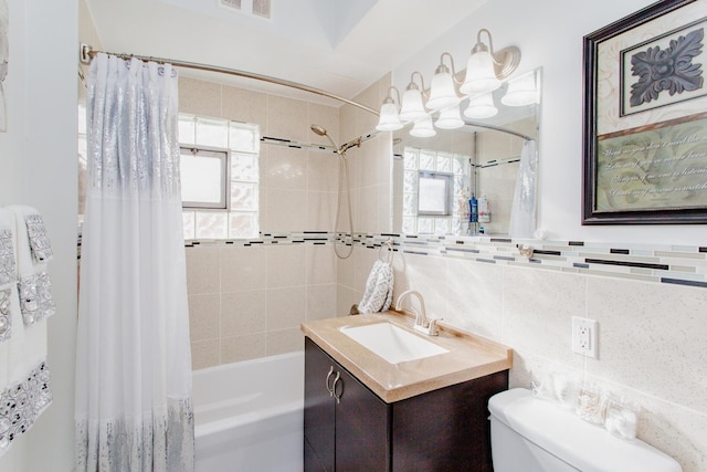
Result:
M535 77L537 101L529 105L502 103L514 80ZM540 70L511 77L493 93L498 113L489 118L462 117L465 126L436 129L433 137L410 135L412 124L393 134L393 232L404 234L492 234L507 235L526 138L537 141L540 127ZM462 102L462 112L468 98ZM434 120L433 116L433 120ZM537 153L537 150L536 150ZM532 157L535 159L535 156ZM537 169L536 169L537 174ZM431 176L440 179L430 192ZM446 179L446 180L444 180ZM450 182L450 191L441 191L441 181ZM535 192L534 192L535 193ZM489 214L482 221L469 221L472 195ZM428 197L436 196L435 202ZM424 204L421 204L421 201ZM421 209L447 208L436 214ZM478 218L477 218L478 220Z

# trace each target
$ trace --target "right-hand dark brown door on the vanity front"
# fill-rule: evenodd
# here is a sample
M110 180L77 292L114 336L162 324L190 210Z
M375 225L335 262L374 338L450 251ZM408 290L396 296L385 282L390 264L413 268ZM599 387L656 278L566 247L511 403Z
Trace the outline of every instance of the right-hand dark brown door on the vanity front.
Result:
M336 471L389 471L389 406L342 367L336 385Z

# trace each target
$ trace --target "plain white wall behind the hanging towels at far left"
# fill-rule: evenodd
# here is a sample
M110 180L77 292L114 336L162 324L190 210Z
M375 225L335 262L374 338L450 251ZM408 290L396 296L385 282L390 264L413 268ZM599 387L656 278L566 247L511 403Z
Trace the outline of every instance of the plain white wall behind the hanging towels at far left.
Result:
M76 319L75 0L8 0L8 133L0 134L0 204L39 209L54 249L50 263L56 315L49 321L54 401L0 458L0 470L73 468Z

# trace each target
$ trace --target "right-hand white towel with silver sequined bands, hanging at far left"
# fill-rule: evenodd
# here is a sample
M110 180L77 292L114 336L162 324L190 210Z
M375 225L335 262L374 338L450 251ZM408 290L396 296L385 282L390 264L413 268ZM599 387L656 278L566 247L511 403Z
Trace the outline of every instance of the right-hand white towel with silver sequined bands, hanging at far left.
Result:
M20 310L25 325L33 325L54 314L52 282L46 261L52 249L42 217L31 207L11 206L17 231Z

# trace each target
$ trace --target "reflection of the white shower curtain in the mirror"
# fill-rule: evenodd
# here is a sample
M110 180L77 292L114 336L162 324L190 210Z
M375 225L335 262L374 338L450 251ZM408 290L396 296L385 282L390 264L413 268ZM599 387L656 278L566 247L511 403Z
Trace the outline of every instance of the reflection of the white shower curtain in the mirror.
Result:
M535 233L537 164L535 140L528 139L520 151L516 190L510 207L508 234L511 238L532 238Z

